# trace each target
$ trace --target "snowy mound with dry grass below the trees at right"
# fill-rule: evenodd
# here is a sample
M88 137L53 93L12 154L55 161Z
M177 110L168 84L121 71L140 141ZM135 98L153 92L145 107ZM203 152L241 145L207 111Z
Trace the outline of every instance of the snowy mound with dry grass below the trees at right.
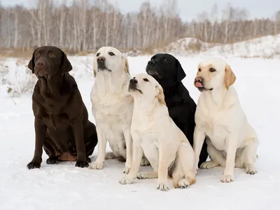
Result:
M280 34L262 36L248 41L232 44L214 44L197 38L182 38L167 45L166 52L188 56L223 56L223 57L280 57Z

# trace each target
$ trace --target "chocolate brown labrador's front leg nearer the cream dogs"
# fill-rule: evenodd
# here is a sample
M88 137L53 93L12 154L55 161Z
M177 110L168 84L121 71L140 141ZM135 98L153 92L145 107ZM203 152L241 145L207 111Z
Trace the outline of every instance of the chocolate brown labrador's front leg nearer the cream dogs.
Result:
M76 167L88 167L87 157L85 155L85 141L83 137L83 123L82 118L76 118L73 120L72 129L73 135L76 142L76 150L77 150L77 162Z

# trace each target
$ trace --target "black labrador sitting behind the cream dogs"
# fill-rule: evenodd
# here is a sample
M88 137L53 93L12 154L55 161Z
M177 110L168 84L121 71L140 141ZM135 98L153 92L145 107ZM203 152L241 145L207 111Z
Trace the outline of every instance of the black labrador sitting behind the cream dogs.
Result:
M146 66L146 72L160 83L165 93L165 102L169 116L186 135L193 146L193 133L195 131L195 110L197 104L190 97L182 80L186 77L185 71L176 57L169 54L158 53L151 57ZM207 160L207 144L204 141L200 162Z

